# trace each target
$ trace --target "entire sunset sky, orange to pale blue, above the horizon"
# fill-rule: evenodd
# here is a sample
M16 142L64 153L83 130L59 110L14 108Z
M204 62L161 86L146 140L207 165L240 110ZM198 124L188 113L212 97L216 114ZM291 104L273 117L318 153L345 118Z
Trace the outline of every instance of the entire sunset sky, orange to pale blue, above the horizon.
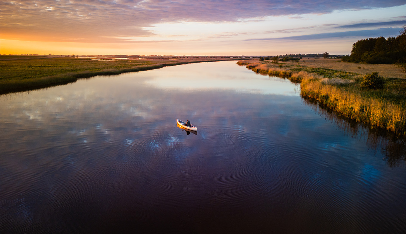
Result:
M0 54L346 55L406 0L0 0Z

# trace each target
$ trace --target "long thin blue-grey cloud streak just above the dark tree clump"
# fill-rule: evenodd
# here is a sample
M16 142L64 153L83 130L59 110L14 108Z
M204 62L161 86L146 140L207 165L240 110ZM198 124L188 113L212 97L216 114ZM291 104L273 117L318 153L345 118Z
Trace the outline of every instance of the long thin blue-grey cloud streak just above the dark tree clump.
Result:
M300 36L286 36L277 38L260 38L246 39L244 41L269 41L269 40L317 40L326 38L343 38L343 37L379 37L379 36L396 36L402 28L380 28L375 30L358 30L347 32L326 32L320 34L308 34Z

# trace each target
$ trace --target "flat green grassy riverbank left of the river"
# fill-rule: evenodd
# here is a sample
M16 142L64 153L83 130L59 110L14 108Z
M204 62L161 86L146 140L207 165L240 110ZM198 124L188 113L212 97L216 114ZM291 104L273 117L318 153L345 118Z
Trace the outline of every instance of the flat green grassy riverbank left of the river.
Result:
M46 56L20 58L23 59L0 60L0 94L68 84L80 78L96 75L117 75L195 62L240 60L240 58L105 60Z

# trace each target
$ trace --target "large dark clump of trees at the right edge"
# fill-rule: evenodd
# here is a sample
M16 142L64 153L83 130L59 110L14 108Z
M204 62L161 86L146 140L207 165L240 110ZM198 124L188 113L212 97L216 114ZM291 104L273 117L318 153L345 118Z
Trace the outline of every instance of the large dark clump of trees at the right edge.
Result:
M383 36L362 39L352 45L351 55L344 56L346 62L369 64L393 64L406 62L406 26L396 37Z

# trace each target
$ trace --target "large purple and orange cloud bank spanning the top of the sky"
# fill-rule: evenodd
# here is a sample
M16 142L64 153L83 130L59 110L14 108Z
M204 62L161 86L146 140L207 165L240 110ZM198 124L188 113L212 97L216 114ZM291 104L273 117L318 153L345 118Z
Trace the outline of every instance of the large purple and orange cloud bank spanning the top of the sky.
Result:
M167 22L229 22L404 4L404 0L13 0L0 2L0 31L2 38L14 40L106 42L108 35L117 42L117 37L153 36L145 28Z

